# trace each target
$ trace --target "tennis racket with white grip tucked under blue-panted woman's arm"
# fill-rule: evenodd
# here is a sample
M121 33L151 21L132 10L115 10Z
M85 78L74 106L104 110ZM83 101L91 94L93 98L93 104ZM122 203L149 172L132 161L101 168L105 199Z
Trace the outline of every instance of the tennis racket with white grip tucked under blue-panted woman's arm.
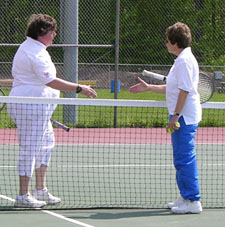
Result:
M147 76L151 78L155 78L157 80L166 81L166 76L163 76L158 73L153 73L147 70L142 72L142 76ZM215 92L215 85L213 80L207 74L200 72L199 73L199 82L198 82L198 93L200 95L200 102L205 103L209 101Z

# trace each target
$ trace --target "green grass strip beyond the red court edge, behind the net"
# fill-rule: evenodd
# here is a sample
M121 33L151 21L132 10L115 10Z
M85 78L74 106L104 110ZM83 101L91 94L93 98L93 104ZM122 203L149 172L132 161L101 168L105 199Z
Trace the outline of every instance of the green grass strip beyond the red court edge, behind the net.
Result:
M5 90L6 94L8 91ZM97 90L99 99L113 99L114 94L109 90ZM79 98L85 98L79 95ZM129 100L159 100L165 101L165 95L152 92L131 94L129 91L121 90L118 99ZM223 102L225 94L215 93L210 101ZM10 121L7 111L1 112L0 128L14 128L15 125ZM63 121L63 107L58 106L53 114L53 119ZM225 127L225 110L203 110L203 121L201 127ZM118 107L117 108L117 127L165 127L168 123L167 108L137 108L137 107ZM114 126L114 107L78 107L78 122L70 127L113 127Z

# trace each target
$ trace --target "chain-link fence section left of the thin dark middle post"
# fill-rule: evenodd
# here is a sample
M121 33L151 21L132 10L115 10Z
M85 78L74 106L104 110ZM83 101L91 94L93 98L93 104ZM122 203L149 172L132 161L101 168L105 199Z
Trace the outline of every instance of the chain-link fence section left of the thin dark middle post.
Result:
M58 23L58 35L54 45L48 48L57 68L57 76L77 82L76 73L79 69L79 80L90 83L98 80L99 88L107 87L109 65L114 63L113 1L80 1L78 4L78 1L6 0L1 1L0 10L2 80L12 78L13 56L26 38L25 30L30 15L46 13L54 16ZM78 47L78 44L81 45ZM74 94L70 95L73 97Z

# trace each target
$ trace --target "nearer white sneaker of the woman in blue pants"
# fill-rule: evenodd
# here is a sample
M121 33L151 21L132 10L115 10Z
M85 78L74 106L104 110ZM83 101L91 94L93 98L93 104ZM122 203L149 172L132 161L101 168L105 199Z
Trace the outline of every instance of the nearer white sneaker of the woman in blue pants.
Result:
M202 212L200 201L185 200L185 203L178 207L172 207L172 213L176 214L199 214Z

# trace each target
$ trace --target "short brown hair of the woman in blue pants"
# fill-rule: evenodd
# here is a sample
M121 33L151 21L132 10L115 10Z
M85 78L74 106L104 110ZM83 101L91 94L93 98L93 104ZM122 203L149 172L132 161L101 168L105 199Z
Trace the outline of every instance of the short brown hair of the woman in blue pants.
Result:
M172 44L177 43L179 48L186 48L191 45L191 30L186 24L177 22L167 28L166 38L169 39Z

